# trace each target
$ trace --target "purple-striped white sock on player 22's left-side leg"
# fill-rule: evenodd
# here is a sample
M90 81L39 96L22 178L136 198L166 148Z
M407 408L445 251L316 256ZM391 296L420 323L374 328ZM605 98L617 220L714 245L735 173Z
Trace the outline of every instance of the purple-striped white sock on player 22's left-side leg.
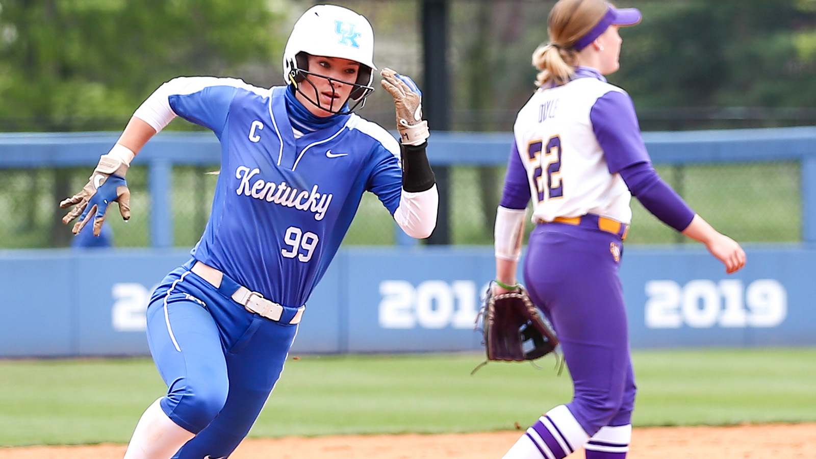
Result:
M589 439L569 408L552 408L536 421L503 459L561 459Z

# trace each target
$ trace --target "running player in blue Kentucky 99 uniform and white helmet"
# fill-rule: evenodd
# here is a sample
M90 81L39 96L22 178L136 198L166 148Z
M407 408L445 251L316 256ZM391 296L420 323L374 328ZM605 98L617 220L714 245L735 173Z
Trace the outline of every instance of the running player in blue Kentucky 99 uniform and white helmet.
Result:
M94 221L108 203L128 218L128 164L175 116L221 144L210 220L192 258L153 292L151 354L168 386L136 426L126 459L228 457L280 376L305 304L370 191L407 234L436 225L437 189L424 149L427 123L410 78L382 71L401 145L353 110L370 86L368 21L320 5L297 21L284 51L286 87L230 78L175 78L135 111L88 185L61 203ZM308 315L308 313L307 313Z

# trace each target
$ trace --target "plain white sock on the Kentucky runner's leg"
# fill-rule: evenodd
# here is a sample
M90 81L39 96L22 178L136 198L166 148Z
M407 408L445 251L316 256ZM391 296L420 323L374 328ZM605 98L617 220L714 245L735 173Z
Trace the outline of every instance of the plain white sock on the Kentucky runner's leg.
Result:
M124 459L171 459L184 443L196 436L167 417L159 400L144 410Z

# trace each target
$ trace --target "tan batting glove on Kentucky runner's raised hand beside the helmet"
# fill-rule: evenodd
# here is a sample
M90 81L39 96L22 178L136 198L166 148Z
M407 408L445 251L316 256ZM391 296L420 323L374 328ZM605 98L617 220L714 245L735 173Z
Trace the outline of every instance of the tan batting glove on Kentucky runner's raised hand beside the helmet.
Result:
M422 91L405 75L385 68L379 84L394 98L397 130L403 145L421 145L430 136L428 122L422 119Z

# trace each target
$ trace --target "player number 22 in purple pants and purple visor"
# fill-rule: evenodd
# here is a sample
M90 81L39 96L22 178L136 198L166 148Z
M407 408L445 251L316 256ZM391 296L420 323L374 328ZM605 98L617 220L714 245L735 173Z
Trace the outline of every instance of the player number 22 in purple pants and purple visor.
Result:
M552 408L504 456L626 457L636 385L618 267L632 217L632 194L661 221L705 243L733 273L745 253L696 215L654 171L632 100L603 75L619 68L620 26L636 9L605 0L560 0L537 49L539 90L520 110L495 226L496 293L516 285L525 208L536 225L525 284L551 320L574 384L570 403Z

